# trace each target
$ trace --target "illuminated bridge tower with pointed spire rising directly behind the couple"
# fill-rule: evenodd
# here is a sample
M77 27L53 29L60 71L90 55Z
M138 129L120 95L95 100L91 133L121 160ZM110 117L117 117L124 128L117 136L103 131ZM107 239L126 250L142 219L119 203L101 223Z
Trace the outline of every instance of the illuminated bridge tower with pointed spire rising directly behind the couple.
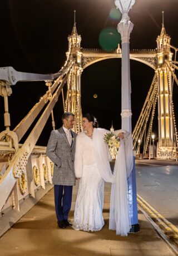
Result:
M75 14L75 13L74 13ZM74 131L81 131L81 74L82 68L82 52L81 52L81 36L77 33L76 21L74 16L74 24L72 33L68 36L67 57L72 54L74 65L72 66L67 78L67 96L65 101L65 112L70 111L75 114Z

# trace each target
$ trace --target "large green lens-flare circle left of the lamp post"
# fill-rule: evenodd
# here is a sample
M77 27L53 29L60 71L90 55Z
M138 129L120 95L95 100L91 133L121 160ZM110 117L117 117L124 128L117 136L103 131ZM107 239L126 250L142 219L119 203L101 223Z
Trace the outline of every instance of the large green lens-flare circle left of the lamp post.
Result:
M103 28L100 32L99 43L104 50L114 50L117 48L118 43L121 42L121 35L117 32L116 28L108 27Z

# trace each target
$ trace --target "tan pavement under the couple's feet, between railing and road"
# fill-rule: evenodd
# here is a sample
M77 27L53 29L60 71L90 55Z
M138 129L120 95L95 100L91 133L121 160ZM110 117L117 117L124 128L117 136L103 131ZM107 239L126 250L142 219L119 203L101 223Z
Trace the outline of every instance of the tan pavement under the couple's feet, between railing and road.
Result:
M70 220L77 196L73 189ZM105 226L99 232L82 232L71 227L57 227L53 189L25 214L0 239L0 255L122 255L172 256L175 255L145 215L139 211L140 232L120 237L108 230L111 184L105 184L103 217Z

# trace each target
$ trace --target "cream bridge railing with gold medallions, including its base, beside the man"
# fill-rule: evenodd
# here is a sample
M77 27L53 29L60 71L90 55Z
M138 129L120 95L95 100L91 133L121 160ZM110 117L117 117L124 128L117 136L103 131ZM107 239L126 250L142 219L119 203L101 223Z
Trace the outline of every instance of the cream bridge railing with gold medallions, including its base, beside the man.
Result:
M22 145L19 145L19 149L21 147ZM9 163L13 161L13 154L12 151L4 151L6 157L0 159L1 180L3 173L8 170ZM19 178L14 178L13 175L9 176L8 181L5 179L1 183L4 190L1 191L0 198L3 200L2 193L6 193L11 180L16 180L1 209L0 237L53 187L52 176L53 163L46 156L46 147L35 146L28 157L22 175ZM6 181L7 183L4 183Z

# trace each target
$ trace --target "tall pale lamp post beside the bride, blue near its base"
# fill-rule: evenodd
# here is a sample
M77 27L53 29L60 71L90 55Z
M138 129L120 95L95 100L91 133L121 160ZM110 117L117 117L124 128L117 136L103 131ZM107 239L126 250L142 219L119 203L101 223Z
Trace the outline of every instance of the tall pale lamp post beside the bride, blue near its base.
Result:
M132 132L131 124L131 82L130 82L130 33L133 23L128 17L128 11L132 8L135 0L115 0L115 5L122 13L122 19L117 25L122 41L122 129ZM128 200L131 218L131 232L139 231L136 193L135 160L133 170L128 178Z

